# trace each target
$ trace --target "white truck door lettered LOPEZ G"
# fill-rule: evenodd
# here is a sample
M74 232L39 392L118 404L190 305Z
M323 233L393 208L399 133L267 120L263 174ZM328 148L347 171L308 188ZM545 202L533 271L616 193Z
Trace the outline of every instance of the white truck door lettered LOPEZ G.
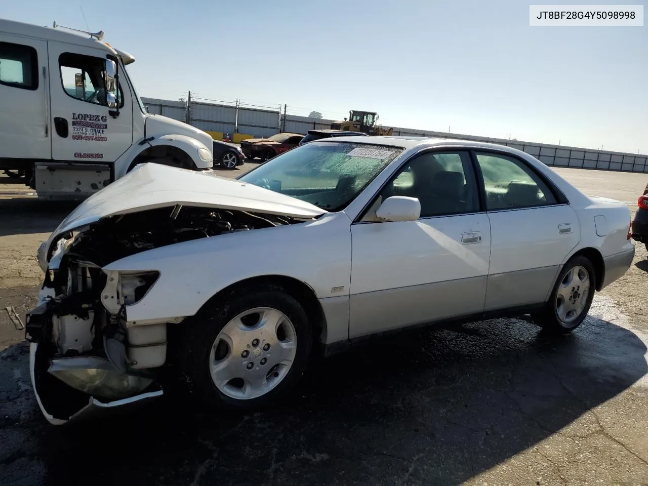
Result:
M119 116L111 116L104 80L107 52L56 41L48 45L52 159L114 162L133 140L130 91L119 89Z

